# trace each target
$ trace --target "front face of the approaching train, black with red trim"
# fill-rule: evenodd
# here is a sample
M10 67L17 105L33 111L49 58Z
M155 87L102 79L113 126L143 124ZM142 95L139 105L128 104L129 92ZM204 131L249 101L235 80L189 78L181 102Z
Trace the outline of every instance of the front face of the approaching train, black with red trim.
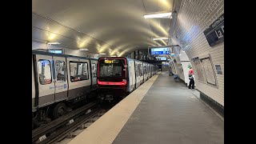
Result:
M98 94L107 100L123 96L127 90L127 59L98 58Z

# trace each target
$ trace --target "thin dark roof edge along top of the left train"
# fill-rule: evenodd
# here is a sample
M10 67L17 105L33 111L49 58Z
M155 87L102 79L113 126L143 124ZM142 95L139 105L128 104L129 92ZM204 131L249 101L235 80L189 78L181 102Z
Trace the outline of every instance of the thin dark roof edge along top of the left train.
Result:
M74 56L74 55L68 55L68 54L54 54L49 53L45 51L39 51L39 50L32 50L32 54L42 54L42 55L50 55L50 56L57 56L57 57L65 57L65 58L82 58L82 59L89 59L89 60L95 60L97 61L97 58L86 58L86 57L80 57L80 56Z

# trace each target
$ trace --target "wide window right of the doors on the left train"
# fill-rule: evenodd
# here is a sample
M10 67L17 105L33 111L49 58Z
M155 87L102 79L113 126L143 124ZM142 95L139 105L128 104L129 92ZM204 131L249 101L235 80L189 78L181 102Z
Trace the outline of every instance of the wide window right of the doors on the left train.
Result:
M70 81L77 82L89 79L87 62L70 62Z

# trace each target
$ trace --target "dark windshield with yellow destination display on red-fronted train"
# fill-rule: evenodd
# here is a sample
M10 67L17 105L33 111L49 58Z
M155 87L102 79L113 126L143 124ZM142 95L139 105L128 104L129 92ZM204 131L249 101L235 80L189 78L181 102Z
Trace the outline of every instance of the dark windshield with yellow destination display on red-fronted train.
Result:
M100 59L99 80L118 82L126 78L125 59Z

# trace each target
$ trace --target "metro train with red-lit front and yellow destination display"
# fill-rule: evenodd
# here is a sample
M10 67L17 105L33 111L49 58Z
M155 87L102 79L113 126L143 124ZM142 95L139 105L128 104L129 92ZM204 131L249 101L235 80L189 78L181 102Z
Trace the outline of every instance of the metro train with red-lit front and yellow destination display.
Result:
M158 72L158 66L131 58L98 58L98 98L124 98Z

